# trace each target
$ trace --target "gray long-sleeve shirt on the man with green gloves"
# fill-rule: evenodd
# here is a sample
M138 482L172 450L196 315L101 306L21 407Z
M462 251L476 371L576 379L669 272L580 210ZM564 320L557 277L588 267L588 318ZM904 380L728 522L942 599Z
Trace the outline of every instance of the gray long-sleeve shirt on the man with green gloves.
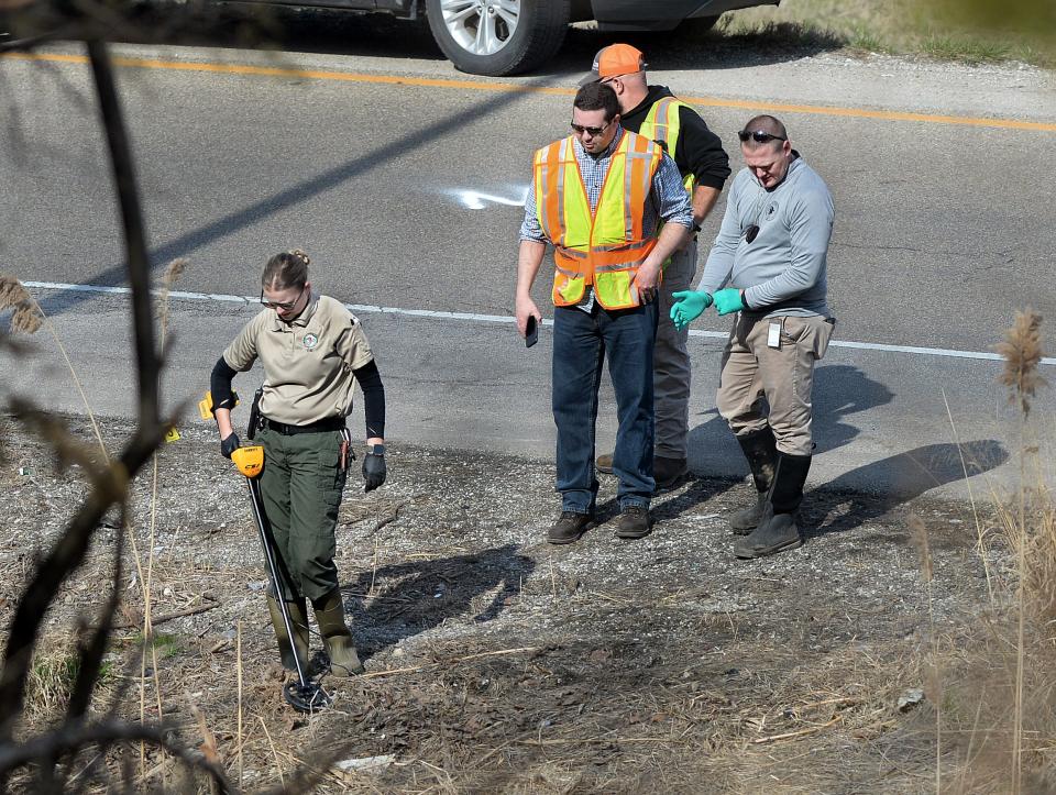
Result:
M799 156L772 190L743 169L697 289L713 295L728 284L745 290L748 311L767 316L829 317L826 261L834 216L828 187ZM749 243L745 231L752 224L759 233Z

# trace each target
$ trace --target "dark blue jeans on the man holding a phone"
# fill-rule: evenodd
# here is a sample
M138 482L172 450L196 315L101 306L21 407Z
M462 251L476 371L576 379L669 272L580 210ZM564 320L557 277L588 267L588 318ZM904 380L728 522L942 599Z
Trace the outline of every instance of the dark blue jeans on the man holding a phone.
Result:
M619 507L649 507L652 479L652 350L657 305L591 312L557 307L553 313L553 421L558 427L558 484L561 510L591 514L597 498L594 426L602 365L616 393L616 450Z

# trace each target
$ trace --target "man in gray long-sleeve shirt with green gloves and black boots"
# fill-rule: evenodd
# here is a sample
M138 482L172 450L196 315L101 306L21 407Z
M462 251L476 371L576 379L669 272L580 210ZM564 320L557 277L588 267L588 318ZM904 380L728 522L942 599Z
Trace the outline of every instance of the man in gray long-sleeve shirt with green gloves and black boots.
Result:
M730 518L743 537L734 554L761 557L803 543L795 512L814 446L814 362L835 324L825 303L834 208L780 121L758 115L737 135L747 168L734 179L697 290L674 294L671 319L684 327L712 303L738 313L716 401L758 490L756 504Z

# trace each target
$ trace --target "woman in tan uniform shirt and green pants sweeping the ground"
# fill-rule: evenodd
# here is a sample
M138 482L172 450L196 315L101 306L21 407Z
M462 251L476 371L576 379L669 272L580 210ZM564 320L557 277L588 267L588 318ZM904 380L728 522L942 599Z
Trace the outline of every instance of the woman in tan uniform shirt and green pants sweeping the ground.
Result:
M210 387L220 452L230 459L241 444L231 426L231 382L261 360L265 378L255 407L255 442L264 448L260 493L278 568L267 598L283 666L296 671L298 662L308 660L310 600L331 673L349 676L364 669L344 621L333 563L338 508L349 462L355 459L345 417L354 379L363 390L362 473L370 492L386 477L385 389L359 320L340 301L311 289L308 263L308 255L297 250L268 260L261 280L264 309L228 345Z

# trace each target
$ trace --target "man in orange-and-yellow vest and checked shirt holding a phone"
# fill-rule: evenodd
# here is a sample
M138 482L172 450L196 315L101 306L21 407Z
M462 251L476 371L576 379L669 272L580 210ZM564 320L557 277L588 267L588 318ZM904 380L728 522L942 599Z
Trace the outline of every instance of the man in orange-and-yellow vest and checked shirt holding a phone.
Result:
M693 227L679 168L662 147L624 130L609 86L583 86L573 134L536 152L517 264L517 328L542 316L531 298L547 245L553 246L553 419L561 516L551 543L571 543L594 518L594 424L605 357L619 429L613 472L619 478L616 535L651 529L652 354L661 266ZM663 225L660 233L657 229Z

